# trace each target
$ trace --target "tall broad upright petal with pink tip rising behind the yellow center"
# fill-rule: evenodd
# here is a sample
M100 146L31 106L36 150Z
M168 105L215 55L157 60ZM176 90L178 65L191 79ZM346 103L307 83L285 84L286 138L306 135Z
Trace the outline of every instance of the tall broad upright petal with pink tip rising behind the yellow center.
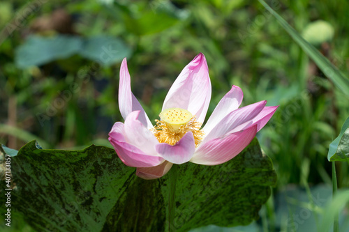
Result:
M187 109L203 123L211 100L211 81L205 56L200 53L181 71L163 102L163 110Z

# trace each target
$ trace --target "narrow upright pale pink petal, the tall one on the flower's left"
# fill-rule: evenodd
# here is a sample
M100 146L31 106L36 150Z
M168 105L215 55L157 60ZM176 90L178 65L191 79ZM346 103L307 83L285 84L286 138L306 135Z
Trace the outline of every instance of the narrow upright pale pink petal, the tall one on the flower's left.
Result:
M126 120L128 114L132 111L140 110L139 121L148 129L153 127L143 107L138 102L135 95L131 92L131 77L127 69L126 58L122 61L120 67L120 82L119 82L119 109L121 116Z

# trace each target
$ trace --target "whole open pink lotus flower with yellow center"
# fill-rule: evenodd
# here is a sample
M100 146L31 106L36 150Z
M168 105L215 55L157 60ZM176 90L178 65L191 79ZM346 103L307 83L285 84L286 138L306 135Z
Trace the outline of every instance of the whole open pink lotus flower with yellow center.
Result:
M242 98L241 88L232 86L202 127L211 99L211 82L205 56L200 53L172 84L154 126L131 92L124 59L119 109L125 123L113 125L109 141L122 162L136 167L136 174L144 179L160 178L172 164L222 164L250 144L277 108L266 107L265 100L239 108Z

